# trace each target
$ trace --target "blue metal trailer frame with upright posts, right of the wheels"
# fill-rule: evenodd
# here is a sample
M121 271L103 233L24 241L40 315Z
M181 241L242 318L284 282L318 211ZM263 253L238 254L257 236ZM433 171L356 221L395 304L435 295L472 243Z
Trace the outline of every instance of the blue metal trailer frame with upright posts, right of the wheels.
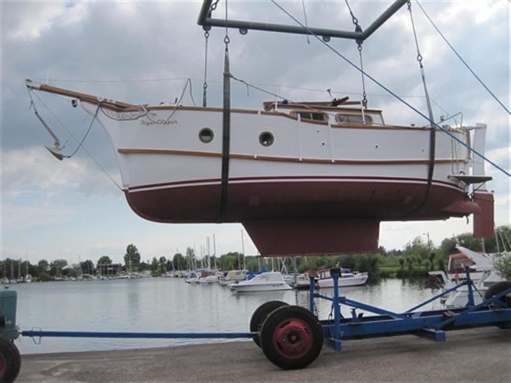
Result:
M340 271L338 269L332 269L331 274L334 280L334 296L327 297L315 293L314 286L311 283L309 310L312 313L315 312L315 298L332 302L333 319L322 320L321 325L324 337L337 351L342 350L342 341L348 339L414 334L437 342L444 342L446 340L445 332L448 330L492 326L503 324L504 322L511 323L511 308L505 307L501 301L502 297L511 294L511 288L489 299L484 299L481 303L476 305L474 304L475 285L468 271L465 281L409 308L404 313L390 312L380 307L340 296ZM468 302L466 307L451 310L415 311L465 285L468 286ZM342 316L342 304L352 307L352 315L350 318L344 318ZM357 308L377 315L368 317L364 317L363 313L357 315Z

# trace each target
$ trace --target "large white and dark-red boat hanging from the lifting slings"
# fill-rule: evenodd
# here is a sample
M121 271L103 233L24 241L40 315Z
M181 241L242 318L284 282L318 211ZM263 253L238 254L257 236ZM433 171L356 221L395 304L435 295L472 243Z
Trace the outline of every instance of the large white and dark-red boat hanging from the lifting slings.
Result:
M395 2L387 17L405 3ZM208 24L213 8L204 1L199 23L205 28L219 25ZM265 28L258 23L256 29ZM225 73L229 89L234 77L228 66ZM230 107L228 91L224 106L214 108L181 100L131 104L30 79L26 86L29 95L67 97L70 108L80 105L92 116L91 126L99 122L129 206L150 221L241 223L263 256L376 251L382 221L474 214L474 235L493 236L494 198L484 185L492 177L471 154L484 155L485 124L440 126L430 115L425 126L399 126L348 97L241 109ZM51 134L55 145L47 149L66 158Z

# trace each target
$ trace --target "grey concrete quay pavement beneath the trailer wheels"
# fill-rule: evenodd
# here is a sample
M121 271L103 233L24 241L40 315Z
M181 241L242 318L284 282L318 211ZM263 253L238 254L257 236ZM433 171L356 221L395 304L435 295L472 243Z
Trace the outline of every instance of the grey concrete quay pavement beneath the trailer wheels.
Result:
M511 382L511 330L450 331L447 342L414 336L323 346L302 370L283 371L251 341L22 356L16 381Z

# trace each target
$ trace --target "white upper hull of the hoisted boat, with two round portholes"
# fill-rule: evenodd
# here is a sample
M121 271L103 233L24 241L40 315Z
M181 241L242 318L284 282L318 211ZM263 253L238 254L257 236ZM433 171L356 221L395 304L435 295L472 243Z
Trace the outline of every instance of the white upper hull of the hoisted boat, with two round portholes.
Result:
M82 105L89 113L95 113L95 105ZM105 111L113 115L113 112ZM123 186L130 192L183 187L180 183L190 180L202 180L201 185L219 184L221 110L179 108L169 121L167 119L173 113L172 109L151 110L149 115L138 113L141 117L122 121L110 118L107 113L100 112L97 118L112 140ZM127 118L130 115L132 113L114 114L115 118ZM231 112L231 125L239 127L233 129L230 135L230 153L234 158L230 160L229 177L233 179L342 175L356 178L408 178L421 182L418 180L425 178L429 131L421 128L365 126L335 129L327 124L299 122L280 113L259 114L255 111ZM268 127L265 129L274 135L274 143L270 147L262 146L259 141L262 126ZM203 127L213 131L211 142L199 140L198 134ZM457 130L452 133L462 141L467 141L466 131ZM455 151L451 150L451 145L456 147ZM453 157L454 152L457 153L456 158ZM181 165L183 158L187 166ZM469 174L467 149L452 142L447 135L438 134L436 158L448 163L435 166L435 182L439 181L442 186L456 190L465 190L466 185L448 178L448 175L453 173L453 167L455 172ZM274 163L268 166L268 161L272 159ZM318 163L314 163L314 160ZM366 163L369 161L382 163ZM389 161L392 162L385 164ZM166 183L173 185L156 186ZM136 192L133 188L137 188Z

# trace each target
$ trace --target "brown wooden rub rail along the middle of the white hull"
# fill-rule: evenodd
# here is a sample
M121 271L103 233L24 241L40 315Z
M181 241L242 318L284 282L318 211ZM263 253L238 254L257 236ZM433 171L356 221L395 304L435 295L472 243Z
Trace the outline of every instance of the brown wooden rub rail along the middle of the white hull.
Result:
M117 150L121 154L164 154L177 156L199 156L199 157L216 157L221 158L222 153L200 152L190 150L171 150L171 149L127 149L120 148ZM331 163L338 165L408 165L408 164L428 164L427 159L410 159L410 160L341 160L341 159L322 159L322 158L298 158L298 157L277 157L277 156L259 156L250 154L231 153L229 158L243 160L260 160L272 162L303 162L303 163ZM435 163L458 163L468 162L466 159L436 159Z

